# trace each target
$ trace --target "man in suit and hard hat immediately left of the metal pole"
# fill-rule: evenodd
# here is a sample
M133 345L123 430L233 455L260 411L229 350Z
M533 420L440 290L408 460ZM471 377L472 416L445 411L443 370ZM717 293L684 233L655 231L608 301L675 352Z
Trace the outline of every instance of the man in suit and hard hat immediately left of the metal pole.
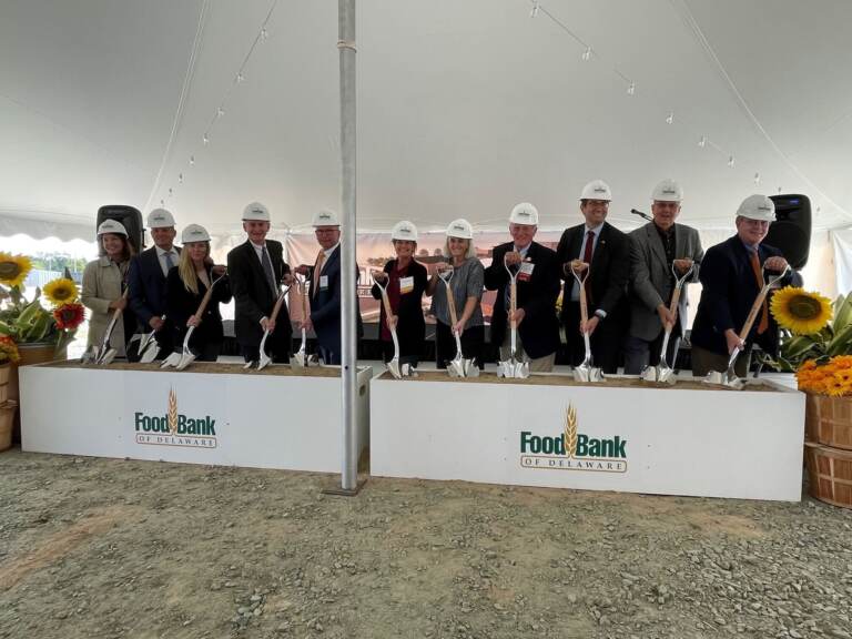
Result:
M313 328L320 356L325 364L341 363L341 223L334 211L314 215L314 234L320 253L313 266L302 264L297 272L311 282L311 315L303 322Z

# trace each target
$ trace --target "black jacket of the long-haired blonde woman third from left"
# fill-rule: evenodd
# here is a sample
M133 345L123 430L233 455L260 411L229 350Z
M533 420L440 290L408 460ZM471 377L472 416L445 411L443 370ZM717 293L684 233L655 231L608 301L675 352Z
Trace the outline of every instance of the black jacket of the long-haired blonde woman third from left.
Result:
M207 268L207 277L210 277L211 282L215 278L210 268ZM178 343L181 345L186 336L186 331L189 331L186 321L199 310L201 300L207 292L207 287L197 276L196 282L199 292L187 291L176 266L169 271L169 276L166 277L165 308L169 317L175 324ZM222 342L224 332L222 329L222 314L220 313L219 305L227 304L231 302L231 286L227 276L225 276L216 282L216 285L213 287L213 294L210 296L207 307L204 310L202 322L192 332L190 346L200 347L202 344Z

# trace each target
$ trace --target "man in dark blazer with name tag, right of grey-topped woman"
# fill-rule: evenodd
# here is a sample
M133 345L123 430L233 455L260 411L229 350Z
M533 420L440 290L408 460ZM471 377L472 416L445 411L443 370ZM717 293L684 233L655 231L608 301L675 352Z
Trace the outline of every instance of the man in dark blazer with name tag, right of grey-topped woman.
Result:
M538 230L538 211L524 202L509 215L513 241L491 251L491 265L485 270L485 287L497 291L491 316L491 344L500 349L500 359L511 357L509 315L509 274L506 265L518 271L518 327L516 357L529 362L529 369L548 373L554 369L559 348L559 320L556 298L559 297L559 267L556 253L534 242Z

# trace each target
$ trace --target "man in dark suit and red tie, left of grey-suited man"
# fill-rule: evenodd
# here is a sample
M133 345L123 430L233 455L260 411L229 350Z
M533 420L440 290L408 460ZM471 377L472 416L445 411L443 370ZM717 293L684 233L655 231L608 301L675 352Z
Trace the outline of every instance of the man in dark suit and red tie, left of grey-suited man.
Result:
M584 224L566 229L556 250L562 290L562 323L571 365L586 354L580 322L580 287L571 275L571 263L589 264L586 281L589 322L586 331L591 342L595 366L616 373L628 322L627 280L630 268L630 242L625 233L606 222L612 194L602 180L584 186L580 212Z

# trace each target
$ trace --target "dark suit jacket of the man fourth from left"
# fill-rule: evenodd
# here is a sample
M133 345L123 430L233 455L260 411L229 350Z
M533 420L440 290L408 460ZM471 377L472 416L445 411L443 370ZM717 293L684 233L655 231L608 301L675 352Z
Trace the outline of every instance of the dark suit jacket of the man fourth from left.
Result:
M266 251L270 254L275 282L290 273L290 266L284 262L284 248L281 242L266 240ZM250 241L231 250L227 254L227 276L234 295L234 332L240 345L256 348L263 337L261 320L272 314L277 292L273 292L266 283L266 275ZM283 304L275 321L275 341L287 344L290 351L293 326L290 323L287 305Z

